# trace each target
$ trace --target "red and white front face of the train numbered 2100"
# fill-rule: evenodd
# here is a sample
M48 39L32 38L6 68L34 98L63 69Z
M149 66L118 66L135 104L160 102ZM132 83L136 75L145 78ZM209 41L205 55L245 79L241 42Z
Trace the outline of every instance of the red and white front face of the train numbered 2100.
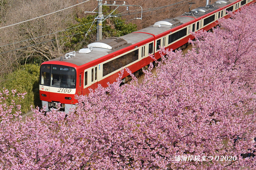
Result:
M55 63L55 64L54 64ZM74 99L77 81L76 68L44 62L40 68L39 95L45 111L58 108L60 111L69 113L77 102Z

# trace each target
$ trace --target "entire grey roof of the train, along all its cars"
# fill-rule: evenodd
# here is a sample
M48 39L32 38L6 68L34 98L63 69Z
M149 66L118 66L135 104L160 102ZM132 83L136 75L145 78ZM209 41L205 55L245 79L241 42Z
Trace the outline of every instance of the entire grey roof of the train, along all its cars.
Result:
M233 4L237 2L236 0L217 0L212 5L206 7L197 7L192 9L190 13L184 13L182 16L177 16L175 18L167 18L156 22L154 25L143 28L141 30L135 31L133 33L121 36L121 37L111 37L104 40L94 42L88 45L88 48L83 48L76 51L76 54L72 58L64 58L63 61L81 66L83 64L89 63L98 58L114 53L118 50L128 48L134 44L142 42L152 38L153 35L157 36L175 27L182 26L184 23L189 23L195 18L200 18L208 13L215 11L216 9L223 8L228 4ZM147 34L149 33L149 34ZM152 34L152 35L150 35ZM59 61L59 58L53 59L53 61Z

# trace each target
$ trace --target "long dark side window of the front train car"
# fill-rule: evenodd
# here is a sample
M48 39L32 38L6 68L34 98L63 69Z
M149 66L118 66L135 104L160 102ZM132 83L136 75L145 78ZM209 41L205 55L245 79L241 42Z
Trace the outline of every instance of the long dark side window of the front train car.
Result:
M136 49L121 57L115 58L109 62L103 64L103 76L108 75L118 69L124 68L124 66L139 59L139 49Z

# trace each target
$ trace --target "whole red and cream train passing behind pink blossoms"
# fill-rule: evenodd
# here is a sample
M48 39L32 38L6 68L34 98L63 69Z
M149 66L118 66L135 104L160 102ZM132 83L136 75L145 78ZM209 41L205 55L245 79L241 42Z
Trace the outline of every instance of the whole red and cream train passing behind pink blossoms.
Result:
M39 95L46 109L56 108L69 112L77 100L75 95L86 95L89 88L98 84L108 86L119 76L122 68L128 67L133 73L161 56L160 46L169 49L182 48L194 37L190 31L210 30L217 26L219 18L228 18L226 11L237 11L256 0L217 0L206 7L198 7L176 18L156 22L122 37L107 38L89 44L88 48L67 53L41 64ZM122 78L128 73L124 71Z

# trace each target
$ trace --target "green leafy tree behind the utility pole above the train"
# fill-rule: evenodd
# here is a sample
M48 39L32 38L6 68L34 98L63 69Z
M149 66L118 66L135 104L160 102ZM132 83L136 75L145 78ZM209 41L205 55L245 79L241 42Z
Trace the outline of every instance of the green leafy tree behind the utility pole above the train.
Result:
M108 12L108 10L108 7L103 6L103 13L105 16L111 12ZM112 15L115 15L115 13L116 11L112 13ZM78 48L81 48L96 40L97 21L93 21L97 16L98 14L87 15L83 18L76 18L78 24L70 26L71 29L68 30L65 34L65 36L71 36L71 38L67 37L63 39L63 42L65 42L66 50L78 50ZM74 29L72 29L73 27ZM137 31L137 26L135 24L126 24L125 20L121 18L107 18L105 22L102 23L102 27L102 36L104 38L120 37L122 35Z

